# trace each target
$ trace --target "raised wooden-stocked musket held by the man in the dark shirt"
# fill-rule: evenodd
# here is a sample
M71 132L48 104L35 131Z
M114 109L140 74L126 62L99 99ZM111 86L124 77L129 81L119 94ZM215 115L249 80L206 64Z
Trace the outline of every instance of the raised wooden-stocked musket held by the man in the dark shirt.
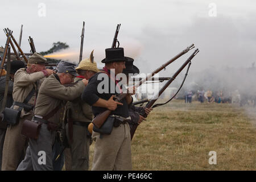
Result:
M141 81L139 81L137 84L135 84L135 88L138 88L140 85L143 84L143 82L147 81L148 79L150 79L152 76L154 76L156 73L160 72L162 69L166 68L167 65L171 64L172 62L174 62L176 59L178 59L180 56L184 55L185 53L187 53L189 50L191 50L192 48L194 48L194 44L192 44L191 46L187 47L186 49L184 49L183 51L181 51L179 54L177 54L175 57L173 57L171 60L167 61L167 63L163 64L162 66L160 66L158 69L156 69L155 71L153 71L151 74L149 74L146 78L143 78ZM170 81L170 80L169 80ZM121 101L123 100L123 98L125 98L127 95L127 93L122 93L119 94L118 96L115 96L115 101ZM98 114L94 119L93 119L93 124L100 128L103 123L106 121L106 119L109 117L110 113L112 112L112 110L105 110L104 112L102 112L101 114Z

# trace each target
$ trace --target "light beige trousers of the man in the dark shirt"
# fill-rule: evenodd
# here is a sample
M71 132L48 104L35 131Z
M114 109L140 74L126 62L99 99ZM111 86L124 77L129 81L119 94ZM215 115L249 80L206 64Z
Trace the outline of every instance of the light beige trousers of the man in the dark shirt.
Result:
M129 124L113 127L110 135L94 132L92 171L131 171L131 135Z

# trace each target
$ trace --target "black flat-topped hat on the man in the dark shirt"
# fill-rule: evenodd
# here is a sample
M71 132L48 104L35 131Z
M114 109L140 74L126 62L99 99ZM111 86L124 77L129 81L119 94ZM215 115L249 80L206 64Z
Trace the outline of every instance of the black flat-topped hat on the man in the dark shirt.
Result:
M106 58L101 63L112 63L118 61L127 61L123 48L108 48L105 49Z

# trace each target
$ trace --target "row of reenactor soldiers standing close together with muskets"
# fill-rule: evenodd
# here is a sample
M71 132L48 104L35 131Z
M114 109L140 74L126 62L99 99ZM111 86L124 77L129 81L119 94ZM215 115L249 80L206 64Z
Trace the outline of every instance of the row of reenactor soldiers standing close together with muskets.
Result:
M66 169L88 170L89 146L93 139L92 170L131 170L130 127L141 123L145 119L141 113L149 114L152 109L132 105L134 87L133 92L123 100L114 101L118 92L116 89L114 93L110 90L113 90L112 86L118 87L119 80L110 77L111 72L128 75L139 73L139 69L133 65L132 58L124 56L123 48L108 48L105 53L106 57L102 60L105 67L102 70L97 68L93 52L78 67L60 61L57 72L46 69L46 58L36 52L28 59L27 68L22 61L11 62L13 90L10 89L9 94L13 104L9 102L6 107L19 110L20 116L17 123L0 130L2 170L55 169L53 153L56 151L53 146L62 136L59 135L62 133L60 128L63 128L61 123L64 123L68 141L68 148L64 152ZM109 92L98 90L104 78L102 74L108 76ZM4 80L5 77L1 77L1 87L5 85ZM119 87L121 92L122 89ZM27 109L27 105L33 107ZM115 118L112 132L102 134L93 131L91 135L89 124L93 117L105 110L111 110ZM34 124L36 135L26 137L24 131L33 133L30 126ZM45 159L42 160L42 156Z

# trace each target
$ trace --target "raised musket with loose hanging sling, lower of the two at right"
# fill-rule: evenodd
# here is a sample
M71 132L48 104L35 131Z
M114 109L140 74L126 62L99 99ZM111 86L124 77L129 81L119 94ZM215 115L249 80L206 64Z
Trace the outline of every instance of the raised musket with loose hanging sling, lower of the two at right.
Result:
M152 107L152 105L156 102L156 100L158 100L159 96L164 92L165 89L168 88L168 86L172 83L172 81L175 80L175 78L177 77L177 75L179 75L179 73L187 66L187 64L191 64L191 60L193 59L193 57L199 52L199 49L196 49L191 56L188 57L187 61L185 61L185 63L183 63L183 65L181 65L181 67L176 71L176 73L174 73L174 75L171 77L170 80L168 80L166 82L166 84L164 84L164 86L159 90L157 96L154 96L153 98L155 99L152 99L150 100L150 102L148 102L148 104L146 105L147 108L150 108ZM157 98L156 98L157 97ZM146 113L143 113L142 116L144 118L147 117L147 114ZM131 130L130 130L130 134L131 134L131 139L133 139L133 135L137 129L138 125L133 125L133 127L131 127Z

